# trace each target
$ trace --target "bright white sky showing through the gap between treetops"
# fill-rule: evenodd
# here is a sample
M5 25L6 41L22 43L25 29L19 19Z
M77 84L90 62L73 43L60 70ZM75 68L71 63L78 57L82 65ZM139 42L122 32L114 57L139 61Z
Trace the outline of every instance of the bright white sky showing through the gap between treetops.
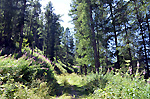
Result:
M68 16L69 10L71 9L71 0L41 0L40 2L42 4L42 8L46 7L49 1L51 1L53 4L54 13L63 15L61 17L61 20L63 21L60 21L61 26L63 26L64 28L69 27L72 31L73 25L71 24L71 22L69 22L72 19L70 16Z

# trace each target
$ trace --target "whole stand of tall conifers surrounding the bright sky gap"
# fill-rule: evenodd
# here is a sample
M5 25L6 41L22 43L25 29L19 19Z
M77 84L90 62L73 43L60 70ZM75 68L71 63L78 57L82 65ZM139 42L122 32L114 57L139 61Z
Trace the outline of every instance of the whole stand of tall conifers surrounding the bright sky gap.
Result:
M1 0L0 47L10 53L40 49L51 61L80 66L85 74L129 67L135 73L137 62L149 74L149 8L148 0L72 0L71 33L52 2L42 12L39 0Z

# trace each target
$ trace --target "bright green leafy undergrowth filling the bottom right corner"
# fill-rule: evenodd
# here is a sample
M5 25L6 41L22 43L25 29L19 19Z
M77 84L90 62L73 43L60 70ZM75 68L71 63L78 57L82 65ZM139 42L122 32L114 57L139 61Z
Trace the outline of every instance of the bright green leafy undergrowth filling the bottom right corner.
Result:
M145 83L143 77L139 76L138 72L133 78L128 73L121 74L112 73L106 74L108 82L105 88L99 88L94 91L91 97L95 98L135 98L149 99L150 86ZM89 98L90 99L90 98ZM93 99L93 98L92 98Z

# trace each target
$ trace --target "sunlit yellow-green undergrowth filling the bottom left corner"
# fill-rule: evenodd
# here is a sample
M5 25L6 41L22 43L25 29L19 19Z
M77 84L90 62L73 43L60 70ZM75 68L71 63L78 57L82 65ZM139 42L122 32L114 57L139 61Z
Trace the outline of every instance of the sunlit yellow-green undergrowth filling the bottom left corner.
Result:
M36 80L38 86L28 87L18 82L7 82L1 86L2 90L5 90L0 94L1 99L49 99L51 96L48 93L49 85L47 82ZM32 83L32 85L35 83ZM34 85L35 86L35 85Z

